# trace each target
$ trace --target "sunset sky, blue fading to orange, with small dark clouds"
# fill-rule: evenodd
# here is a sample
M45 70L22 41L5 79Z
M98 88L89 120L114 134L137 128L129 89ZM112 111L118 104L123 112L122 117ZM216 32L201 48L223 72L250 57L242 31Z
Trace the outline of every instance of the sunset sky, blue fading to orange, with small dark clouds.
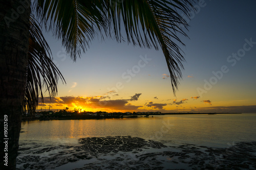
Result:
M256 1L205 0L194 6L186 34L182 80L174 95L161 51L95 38L72 61L61 41L44 33L67 84L38 110L256 113ZM40 101L39 101L40 102Z

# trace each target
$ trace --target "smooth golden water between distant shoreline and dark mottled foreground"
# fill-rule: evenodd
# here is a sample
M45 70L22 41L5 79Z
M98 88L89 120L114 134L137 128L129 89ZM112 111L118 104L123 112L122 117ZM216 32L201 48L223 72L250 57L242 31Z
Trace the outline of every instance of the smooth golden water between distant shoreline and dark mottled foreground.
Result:
M77 143L84 137L127 136L169 144L228 147L256 141L256 114L159 115L100 120L33 121L22 126L19 142Z

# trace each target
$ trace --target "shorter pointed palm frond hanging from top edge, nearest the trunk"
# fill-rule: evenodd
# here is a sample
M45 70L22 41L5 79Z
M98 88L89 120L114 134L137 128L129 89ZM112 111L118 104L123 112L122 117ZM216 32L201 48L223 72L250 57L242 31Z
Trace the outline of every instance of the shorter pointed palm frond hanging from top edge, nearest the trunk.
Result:
M37 14L45 22L47 30L62 40L72 59L85 52L95 33L104 25L98 10L99 1L83 0L39 0ZM48 27L47 27L48 26Z

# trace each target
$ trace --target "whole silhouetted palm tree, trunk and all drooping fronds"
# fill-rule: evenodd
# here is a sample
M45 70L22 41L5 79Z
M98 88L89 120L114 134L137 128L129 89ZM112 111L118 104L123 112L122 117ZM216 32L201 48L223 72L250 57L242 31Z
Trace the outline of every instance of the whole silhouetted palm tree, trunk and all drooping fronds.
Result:
M184 61L178 45L184 44L177 33L186 36L181 28L186 28L187 23L181 13L187 14L192 3L193 0L38 0L35 9L37 19L62 40L74 61L96 35L156 50L161 47L175 93ZM32 27L36 22L30 20L31 0L1 0L0 4L0 119L8 118L1 121L0 130L1 151L6 147L3 136L7 135L4 140L8 141L8 167L1 162L1 169L15 169L23 109L32 111L39 94L42 97L41 77L54 96L56 75L62 76L48 57L49 47L41 38L40 28ZM34 38L32 29L38 33ZM6 120L8 134L3 128Z

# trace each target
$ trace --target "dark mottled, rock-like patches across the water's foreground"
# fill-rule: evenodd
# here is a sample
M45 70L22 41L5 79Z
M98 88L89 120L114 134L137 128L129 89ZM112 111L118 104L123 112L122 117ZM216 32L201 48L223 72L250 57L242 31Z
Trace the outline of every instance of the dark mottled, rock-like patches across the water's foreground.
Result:
M18 153L17 169L256 169L256 142L209 148L106 136L76 145L20 143Z

